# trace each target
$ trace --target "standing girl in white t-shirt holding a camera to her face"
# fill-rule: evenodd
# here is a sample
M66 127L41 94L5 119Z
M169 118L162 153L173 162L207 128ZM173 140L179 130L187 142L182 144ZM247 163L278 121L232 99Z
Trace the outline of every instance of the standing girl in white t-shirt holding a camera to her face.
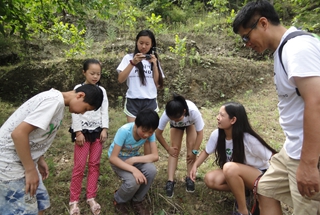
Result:
M163 87L164 76L156 46L150 30L140 31L134 53L125 55L117 68L118 81L126 81L128 86L124 107L128 122L134 122L137 113L144 108L158 111L157 89Z

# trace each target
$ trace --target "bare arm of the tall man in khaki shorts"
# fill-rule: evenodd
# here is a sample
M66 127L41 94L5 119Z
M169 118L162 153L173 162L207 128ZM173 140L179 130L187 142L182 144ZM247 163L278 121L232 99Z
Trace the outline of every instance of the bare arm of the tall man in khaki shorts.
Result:
M302 196L319 192L320 77L294 78L304 100L303 145L296 177Z

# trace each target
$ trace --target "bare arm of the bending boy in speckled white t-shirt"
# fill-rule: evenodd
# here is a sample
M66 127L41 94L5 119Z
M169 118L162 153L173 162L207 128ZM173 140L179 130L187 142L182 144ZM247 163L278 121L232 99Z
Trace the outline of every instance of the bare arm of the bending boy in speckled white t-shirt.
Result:
M29 145L29 134L37 127L21 122L11 133L17 154L25 169L26 187L25 192L31 196L36 194L39 185L39 176L36 166L31 157L31 150Z

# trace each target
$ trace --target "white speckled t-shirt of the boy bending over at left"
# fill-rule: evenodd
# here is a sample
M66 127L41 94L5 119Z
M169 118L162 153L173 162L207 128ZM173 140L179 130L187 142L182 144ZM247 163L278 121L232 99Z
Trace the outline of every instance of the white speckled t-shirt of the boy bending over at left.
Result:
M36 163L53 142L63 119L64 107L62 93L51 89L26 101L7 119L0 128L0 180L15 180L25 176L11 138L12 131L21 122L37 127L29 135L31 156Z

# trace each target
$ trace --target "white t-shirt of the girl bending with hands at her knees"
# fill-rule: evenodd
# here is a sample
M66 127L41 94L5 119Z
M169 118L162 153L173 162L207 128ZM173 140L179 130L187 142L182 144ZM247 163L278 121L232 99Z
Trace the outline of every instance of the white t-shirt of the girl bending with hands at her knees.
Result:
M158 129L163 131L167 123L170 121L170 125L173 127L187 127L194 124L196 131L201 131L204 127L204 122L199 109L192 101L186 100L186 102L189 108L189 116L185 116L181 121L175 122L170 120L166 111L164 111L160 118Z

